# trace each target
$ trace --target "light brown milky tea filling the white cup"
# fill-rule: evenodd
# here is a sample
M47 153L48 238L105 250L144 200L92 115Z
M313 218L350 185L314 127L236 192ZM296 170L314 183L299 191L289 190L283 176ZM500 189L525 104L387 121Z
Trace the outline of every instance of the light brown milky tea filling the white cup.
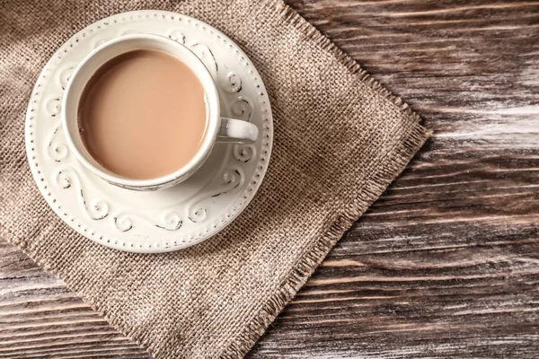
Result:
M208 127L204 88L181 60L130 51L93 74L78 124L86 149L105 169L133 180L159 178L198 153Z

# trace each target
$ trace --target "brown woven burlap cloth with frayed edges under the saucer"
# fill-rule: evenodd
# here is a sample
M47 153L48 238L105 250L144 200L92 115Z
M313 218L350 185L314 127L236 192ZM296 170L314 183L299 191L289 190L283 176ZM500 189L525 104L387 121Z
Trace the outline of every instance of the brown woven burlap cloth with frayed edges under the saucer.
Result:
M31 88L75 31L162 9L242 47L270 94L275 141L252 204L188 250L110 250L41 197L24 151ZM420 148L420 118L287 5L272 0L0 1L0 232L156 358L237 357Z

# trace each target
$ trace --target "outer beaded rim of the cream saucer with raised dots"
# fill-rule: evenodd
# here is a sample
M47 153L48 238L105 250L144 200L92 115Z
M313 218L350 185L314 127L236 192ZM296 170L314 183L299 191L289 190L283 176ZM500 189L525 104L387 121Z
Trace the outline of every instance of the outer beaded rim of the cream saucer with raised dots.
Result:
M251 76L251 81L254 84L254 87L257 91L257 99L261 108L261 117L262 117L262 128L261 128L261 153L258 154L258 162L256 163L255 171L252 175L249 185L241 195L238 195L233 206L229 206L229 209L220 217L216 218L213 222L205 224L204 229L191 232L190 234L184 235L181 238L177 238L174 241L154 241L148 240L148 243L138 243L134 244L130 241L114 239L106 236L101 232L97 232L92 228L86 226L84 223L81 223L77 220L74 215L70 215L59 202L59 200L54 197L54 194L49 189L49 183L41 175L40 163L37 162L35 143L36 133L35 133L35 121L36 121L36 107L40 103L41 88L43 83L48 80L48 74L53 72L58 66L59 61L63 58L64 54L67 54L72 48L75 48L76 44L80 39L84 39L86 34L93 33L94 31L99 31L103 27L106 27L110 24L119 24L122 22L128 23L132 21L140 21L146 19L155 19L165 22L186 22L192 25L194 28L197 28L199 31L205 31L210 36L216 38L216 40L222 43L225 48L228 48L233 52L234 56L238 61L241 62L242 66L245 66L248 70L247 73ZM41 194L45 197L49 206L54 210L54 212L70 227L75 229L76 232L79 232L84 237L96 241L104 246L117 249L117 250L126 250L132 252L144 252L144 253L157 253L157 252L166 252L172 250L181 250L183 248L190 247L201 241L207 240L212 235L220 232L225 228L226 225L232 223L234 218L240 215L243 212L243 209L251 202L252 197L254 197L256 191L261 186L261 181L264 178L266 171L268 170L270 162L270 154L272 147L272 138L273 138L273 123L272 123L272 114L270 109L270 99L267 95L264 84L261 82L261 76L252 65L251 60L239 48L232 39L229 39L221 31L216 30L205 22L200 22L189 16L185 16L179 13L171 13L164 11L135 11L129 13L119 13L112 15L108 18L102 19L98 22L94 22L92 25L84 28L82 31L77 32L71 39L68 39L64 45L62 45L57 52L50 58L47 65L44 67L41 72L37 83L34 86L33 91L31 92L31 98L29 102L29 107L26 114L26 126L25 126L25 142L26 142L26 152L28 155L28 161L30 162L31 173L36 180L38 188L40 189Z

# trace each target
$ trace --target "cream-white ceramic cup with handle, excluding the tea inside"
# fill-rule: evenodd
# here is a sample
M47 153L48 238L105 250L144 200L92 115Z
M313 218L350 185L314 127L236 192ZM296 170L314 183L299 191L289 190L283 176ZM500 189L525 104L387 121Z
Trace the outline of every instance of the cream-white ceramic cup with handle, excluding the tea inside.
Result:
M151 180L131 180L102 167L86 150L80 136L77 121L77 109L81 94L93 74L110 59L126 52L140 49L162 51L181 60L197 74L206 94L208 127L199 152L195 154L190 162L177 171ZM258 137L258 127L252 123L240 119L221 117L216 83L214 83L211 74L209 74L208 69L200 61L199 57L179 42L150 34L128 35L112 39L99 48L95 48L87 57L84 57L84 60L76 66L67 83L62 101L62 127L70 149L88 170L113 185L136 190L169 188L182 180L187 180L206 161L208 154L217 141L251 144Z

